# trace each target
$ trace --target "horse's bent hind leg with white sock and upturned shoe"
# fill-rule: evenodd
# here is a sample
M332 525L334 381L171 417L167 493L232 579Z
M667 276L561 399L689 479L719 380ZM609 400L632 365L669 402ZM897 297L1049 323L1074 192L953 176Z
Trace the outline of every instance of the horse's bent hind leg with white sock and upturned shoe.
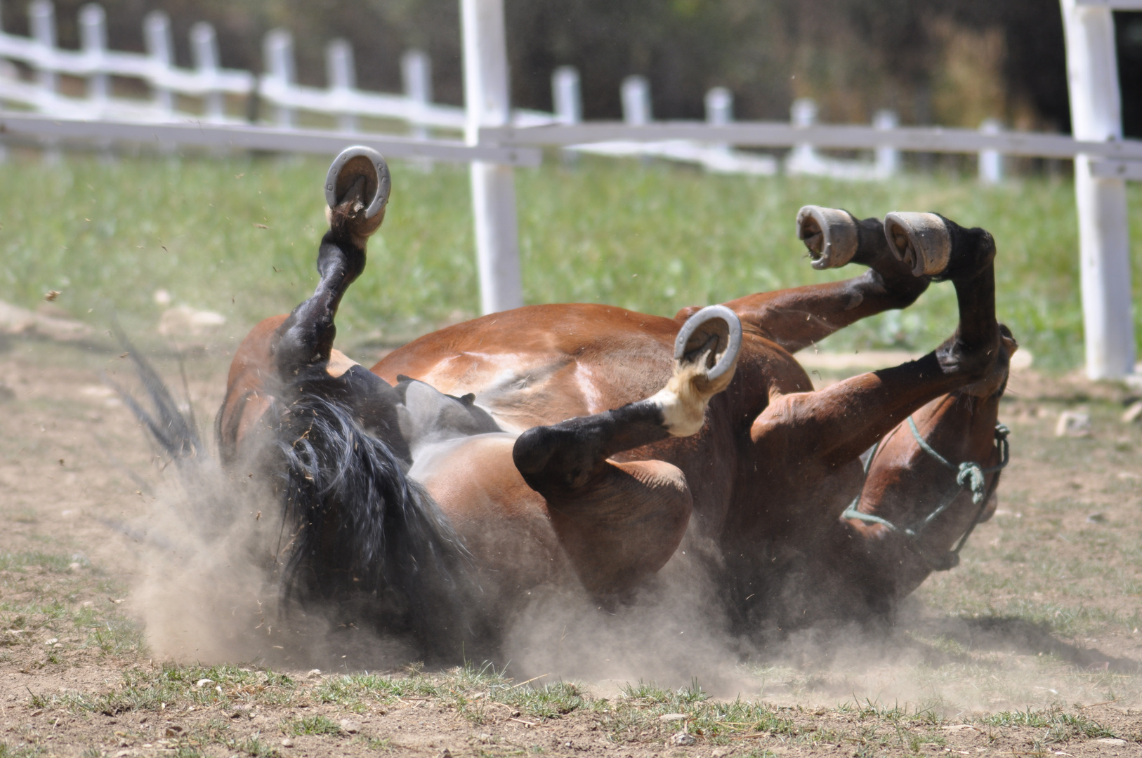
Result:
M727 308L711 306L684 324L675 372L652 397L613 411L528 429L515 467L542 495L552 525L584 586L622 591L674 555L692 508L682 471L659 460L611 457L697 434L709 400L733 378L741 331Z

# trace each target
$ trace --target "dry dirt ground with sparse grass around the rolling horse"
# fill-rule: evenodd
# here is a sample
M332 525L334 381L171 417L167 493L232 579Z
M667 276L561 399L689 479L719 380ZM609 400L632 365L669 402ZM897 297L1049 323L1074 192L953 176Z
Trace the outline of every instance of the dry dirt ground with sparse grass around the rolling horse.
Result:
M963 565L885 638L729 661L747 685L709 696L557 671L158 660L132 588L161 461L104 382L131 377L110 344L0 344L0 758L1142 755L1142 426L1120 418L1126 386L1016 372L999 510ZM177 362L156 362L177 382ZM226 362L187 353L207 429ZM817 358L814 377L855 363ZM1089 430L1055 436L1068 410Z

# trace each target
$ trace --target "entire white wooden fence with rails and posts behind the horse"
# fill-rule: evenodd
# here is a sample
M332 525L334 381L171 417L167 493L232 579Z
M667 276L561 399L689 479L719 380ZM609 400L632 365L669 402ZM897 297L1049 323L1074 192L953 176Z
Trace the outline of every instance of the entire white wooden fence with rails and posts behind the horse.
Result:
M706 122L660 122L653 120L650 88L641 76L622 83L622 122L584 123L579 76L569 67L553 74L555 113L513 110L502 0L460 0L465 108L432 102L431 65L423 53L402 56L402 95L372 92L356 87L353 50L335 40L325 55L328 86L315 88L297 83L292 38L284 30L266 35L266 73L255 76L223 68L214 29L195 24L194 67L182 68L174 65L170 22L161 11L146 16L145 55L107 49L106 21L97 5L80 11L81 48L64 50L56 45L50 0L33 0L30 38L0 30L0 103L30 110L0 111L0 134L47 146L127 140L160 150L183 144L336 153L357 143L393 156L469 162L485 313L522 303L512 167L538 164L544 146L658 156L715 172L772 175L783 168L849 179L893 176L901 151L970 153L979 156L984 183L1002 179L1004 155L1075 159L1087 373L1121 377L1134 366L1124 182L1142 179L1142 142L1121 138L1111 11L1142 10L1142 0L1061 5L1073 137L1003 131L990 120L980 130L900 127L887 111L877 113L872 126L821 126L811 100L794 103L790 122L738 122L732 94L724 88L707 94ZM34 72L34 81L21 76L11 61ZM83 91L63 91L61 75L82 79ZM140 81L150 97L116 95L113 78ZM254 97L268 106L268 123L231 114L234 100L246 105ZM185 110L187 102L196 102L198 108ZM313 114L332 116L336 127L303 128L301 121L315 122ZM363 119L404 123L408 135L363 131ZM789 150L782 164L738 147ZM822 155L822 148L870 151L875 158L838 160Z

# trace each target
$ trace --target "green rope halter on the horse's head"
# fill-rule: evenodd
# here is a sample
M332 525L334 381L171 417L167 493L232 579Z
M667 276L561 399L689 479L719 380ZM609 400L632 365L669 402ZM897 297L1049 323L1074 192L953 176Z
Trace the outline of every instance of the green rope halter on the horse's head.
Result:
M855 518L856 521L862 521L867 524L880 524L888 531L896 534L902 534L908 538L908 547L920 558L924 563L928 565L932 571L949 571L959 565L959 550L967 542L967 538L971 537L972 531L975 529L976 524L980 523L980 517L983 516L983 509L987 506L988 498L995 491L995 485L997 479L992 479L991 486L987 486L987 479L984 478L988 474L996 474L1006 468L1007 462L1011 460L1011 451L1007 445L1007 435L1011 434L1008 429L1003 424L996 425L995 430L995 444L999 449L999 462L995 466L989 466L987 468L980 466L973 461L964 461L959 466L950 462L947 458L938 453L932 449L924 437L920 436L920 430L916 428L916 421L912 417L908 417L908 427L912 430L912 437L916 438L916 444L920 446L920 450L926 452L928 455L934 458L944 468L956 471L956 483L944 493L943 499L940 505L936 506L935 510L928 514L925 518L914 523L910 526L896 526L887 518L882 518L880 516L875 516L872 514L863 514L859 510L860 507L860 493L853 498L853 501L849 503L849 508L845 513L841 514L842 518ZM864 462L864 479L861 482L861 490L863 490L863 482L868 481L868 471L872 468L872 459L876 458L876 452L880 447L880 441L877 441L872 445L872 451L869 453L868 460ZM967 531L964 535L959 538L959 543L955 548L941 556L931 556L920 546L919 539L935 518L942 514L944 510L951 506L951 502L959 495L964 490L972 491L972 502L979 506L975 511L975 517L972 523L967 526Z

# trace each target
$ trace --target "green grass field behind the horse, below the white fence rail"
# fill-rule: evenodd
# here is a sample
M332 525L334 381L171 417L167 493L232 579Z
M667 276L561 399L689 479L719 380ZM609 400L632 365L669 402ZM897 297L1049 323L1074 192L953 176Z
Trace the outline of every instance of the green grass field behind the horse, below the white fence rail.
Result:
M32 307L59 290L58 304L77 316L105 323L118 314L129 329L144 330L158 320L153 293L162 288L176 304L220 312L241 330L312 291L325 167L317 159L70 158L56 167L10 160L0 164L0 299ZM400 342L477 312L467 171L396 163L393 184L369 267L339 320L348 345ZM1081 360L1069 180L837 183L586 160L520 170L516 192L528 303L598 301L673 314L820 282L849 272L810 268L793 232L801 205L860 216L935 210L995 234L1000 318L1036 365L1065 369ZM1129 203L1137 226L1142 193L1132 188ZM1134 257L1142 260L1142 252ZM825 347L926 349L951 331L955 316L944 284L909 311L861 323Z

